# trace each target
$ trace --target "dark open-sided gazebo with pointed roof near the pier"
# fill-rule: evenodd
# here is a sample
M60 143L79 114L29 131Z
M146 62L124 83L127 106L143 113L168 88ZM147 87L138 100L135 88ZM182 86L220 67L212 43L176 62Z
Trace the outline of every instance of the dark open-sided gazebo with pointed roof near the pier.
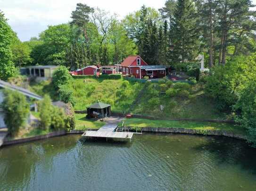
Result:
M97 102L87 107L87 118L101 118L104 119L106 116L111 114L111 105Z

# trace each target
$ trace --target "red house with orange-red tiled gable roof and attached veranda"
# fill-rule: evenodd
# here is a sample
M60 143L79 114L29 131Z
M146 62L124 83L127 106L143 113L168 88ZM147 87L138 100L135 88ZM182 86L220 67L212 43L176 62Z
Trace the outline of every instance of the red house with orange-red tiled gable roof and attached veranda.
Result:
M148 65L139 55L128 56L121 63L122 74L143 79L144 76L158 78L166 76L166 66Z

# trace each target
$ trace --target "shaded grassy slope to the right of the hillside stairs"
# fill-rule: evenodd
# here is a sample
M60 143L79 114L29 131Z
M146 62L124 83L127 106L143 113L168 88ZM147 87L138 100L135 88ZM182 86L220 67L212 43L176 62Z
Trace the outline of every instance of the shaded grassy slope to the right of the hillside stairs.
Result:
M147 94L147 92L145 93ZM160 105L165 107L164 111L160 111L159 105L155 105L150 109L148 106L148 98L144 96L140 105L135 107L133 114L147 115L154 117L170 117L170 118L190 118L190 119L230 119L231 116L221 113L215 107L213 99L207 97L200 84L193 85L189 98L168 98L164 94L159 95ZM177 105L167 108L167 103L176 101Z

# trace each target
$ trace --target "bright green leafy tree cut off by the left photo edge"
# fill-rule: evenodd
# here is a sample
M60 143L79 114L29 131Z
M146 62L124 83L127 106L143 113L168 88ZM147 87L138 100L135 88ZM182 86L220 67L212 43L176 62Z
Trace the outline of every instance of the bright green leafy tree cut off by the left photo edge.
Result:
M6 80L15 73L12 61L11 38L12 30L3 12L0 11L0 79Z

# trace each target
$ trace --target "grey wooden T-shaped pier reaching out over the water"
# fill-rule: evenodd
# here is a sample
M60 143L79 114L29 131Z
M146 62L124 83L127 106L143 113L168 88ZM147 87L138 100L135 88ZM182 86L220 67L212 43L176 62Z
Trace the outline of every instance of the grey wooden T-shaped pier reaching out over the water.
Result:
M85 138L106 138L117 140L131 140L133 132L117 132L115 131L119 122L124 120L121 117L108 117L105 119L106 124L98 131L85 131L83 137Z

